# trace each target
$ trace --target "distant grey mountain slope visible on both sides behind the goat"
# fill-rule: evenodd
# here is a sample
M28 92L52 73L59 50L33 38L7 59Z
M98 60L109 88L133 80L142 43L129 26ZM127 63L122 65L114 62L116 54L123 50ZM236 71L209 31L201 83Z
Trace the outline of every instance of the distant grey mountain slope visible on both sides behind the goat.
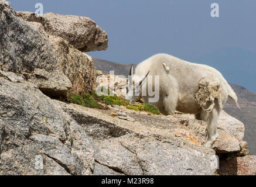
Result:
M114 70L115 75L128 76L132 64L113 63L111 61L101 60L92 57L94 66L97 70L103 71L103 74L109 74ZM134 64L136 67L136 64ZM231 99L228 100L224 110L231 116L244 123L244 140L248 142L248 149L251 155L256 155L256 93L248 91L243 86L230 84L238 96L238 103L241 109Z

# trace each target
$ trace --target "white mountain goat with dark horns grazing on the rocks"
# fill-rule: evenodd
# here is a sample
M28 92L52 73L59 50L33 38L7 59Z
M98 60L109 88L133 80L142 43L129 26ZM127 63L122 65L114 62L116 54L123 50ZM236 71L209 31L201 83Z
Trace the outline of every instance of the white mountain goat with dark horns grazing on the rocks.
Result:
M159 99L151 103L164 115L172 115L178 110L192 113L196 119L207 122L205 146L211 147L218 136L217 119L228 96L238 106L237 95L223 75L208 65L189 63L168 54L156 54L138 64L135 74L131 67L126 99L135 102L141 96L145 102L150 102L152 96L147 91L142 95L142 87L146 90L155 88L158 82L150 82L149 75L152 80L159 75Z

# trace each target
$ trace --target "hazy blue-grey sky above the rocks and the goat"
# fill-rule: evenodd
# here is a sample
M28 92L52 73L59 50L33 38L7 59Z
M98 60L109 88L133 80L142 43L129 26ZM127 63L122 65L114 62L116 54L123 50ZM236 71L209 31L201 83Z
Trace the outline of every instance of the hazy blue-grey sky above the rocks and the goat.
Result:
M106 51L90 56L138 64L168 53L217 68L228 82L256 92L255 0L9 0L16 11L87 16L109 37ZM220 17L211 18L217 2Z

